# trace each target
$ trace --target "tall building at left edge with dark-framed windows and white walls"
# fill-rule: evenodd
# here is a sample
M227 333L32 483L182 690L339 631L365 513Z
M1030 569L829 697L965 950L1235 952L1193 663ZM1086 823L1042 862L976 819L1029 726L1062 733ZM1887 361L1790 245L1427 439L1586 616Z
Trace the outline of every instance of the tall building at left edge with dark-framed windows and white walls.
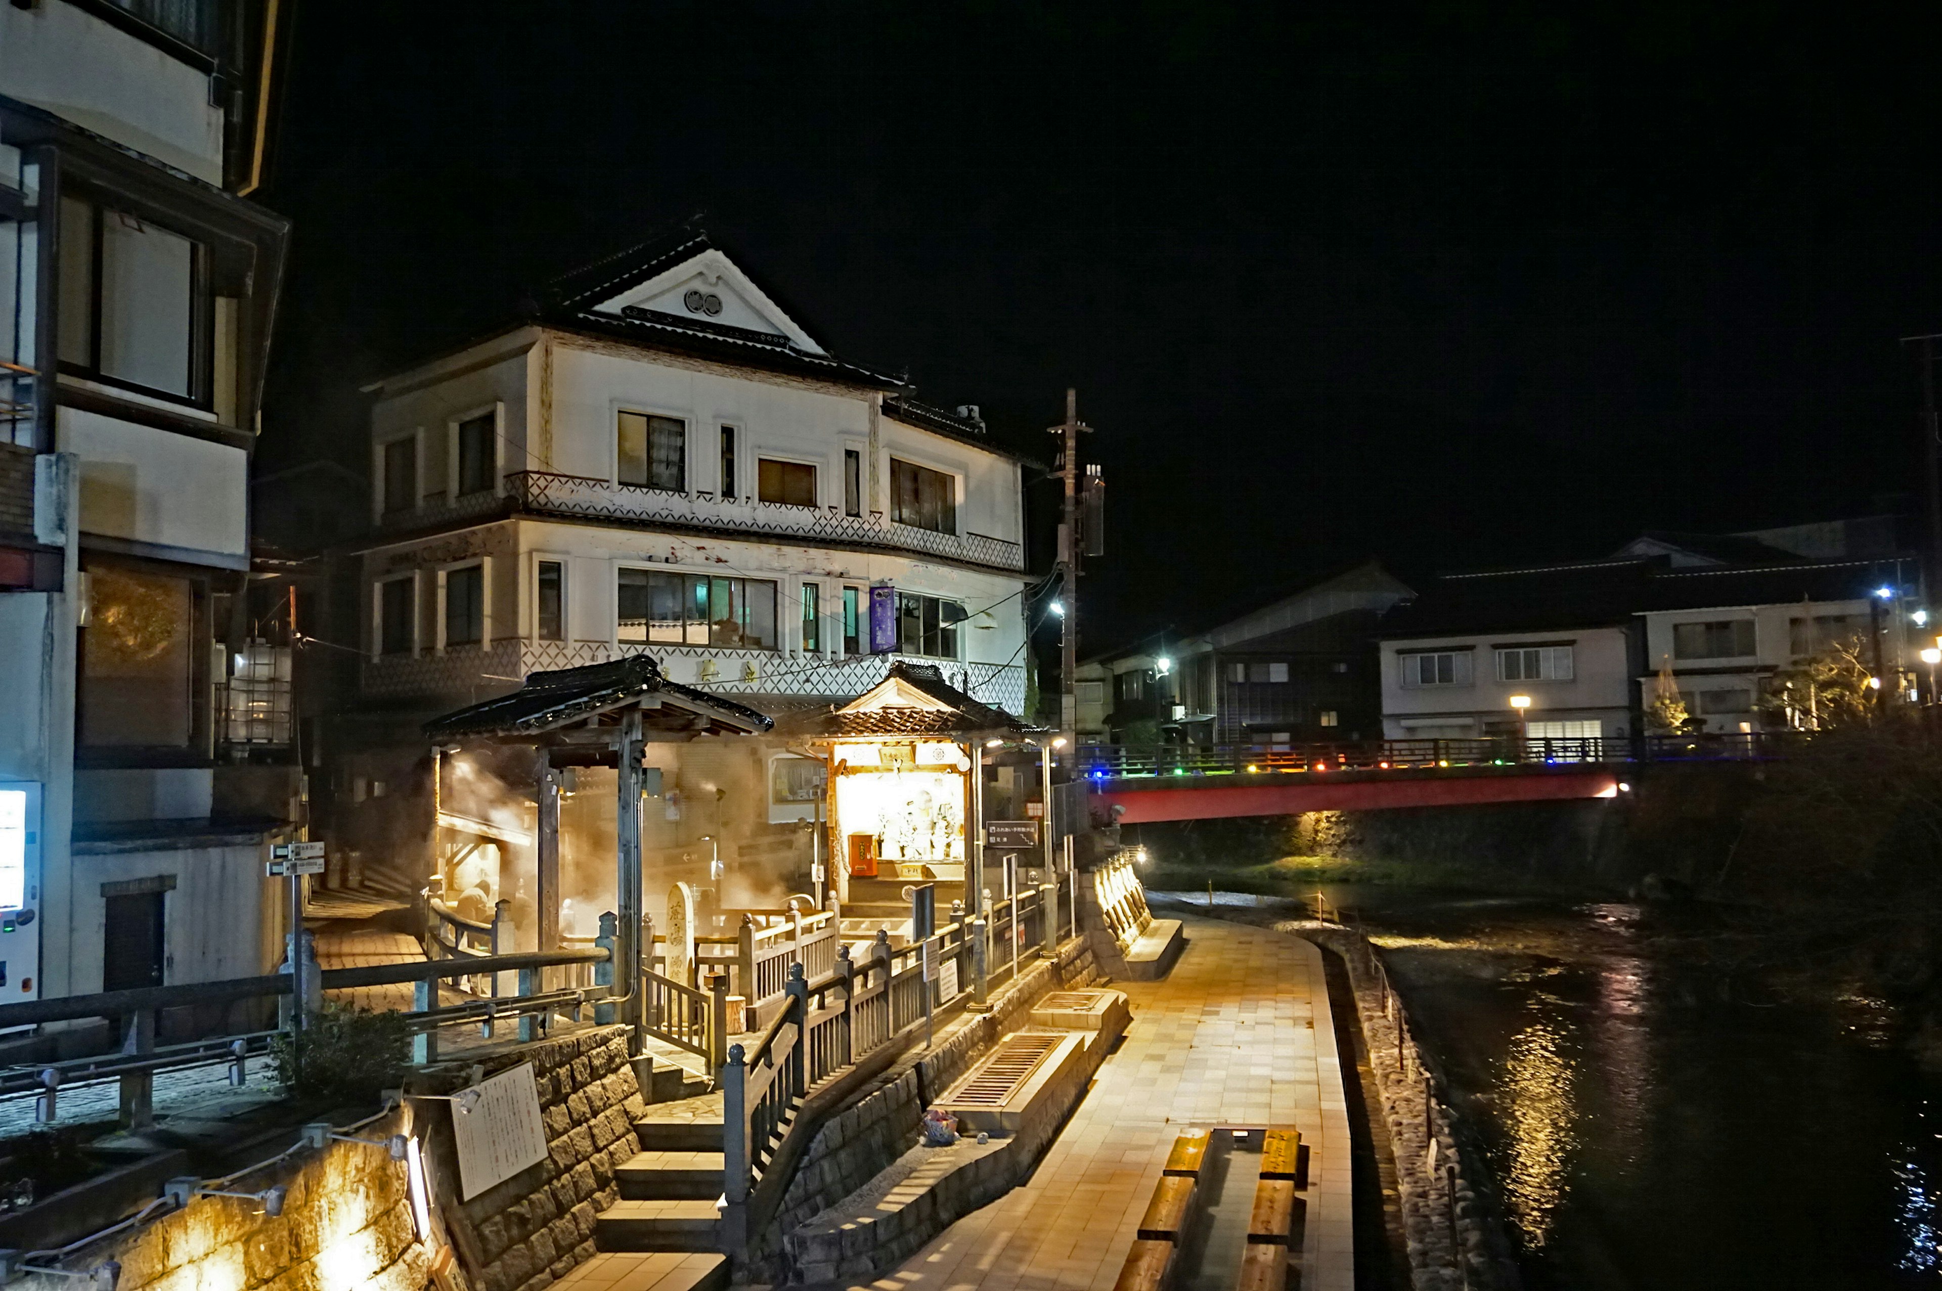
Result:
M0 6L0 1002L280 957L295 771L227 720L287 237L241 198L270 14Z

